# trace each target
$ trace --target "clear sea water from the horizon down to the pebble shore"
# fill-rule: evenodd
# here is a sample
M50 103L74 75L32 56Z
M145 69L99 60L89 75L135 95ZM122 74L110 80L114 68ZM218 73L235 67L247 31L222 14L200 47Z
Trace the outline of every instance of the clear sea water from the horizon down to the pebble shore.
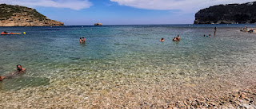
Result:
M0 95L8 95L0 104L143 107L246 88L256 84L256 35L240 32L242 26L0 27L26 32L0 36L0 75L17 64L28 71L0 84ZM172 41L178 34L181 41Z

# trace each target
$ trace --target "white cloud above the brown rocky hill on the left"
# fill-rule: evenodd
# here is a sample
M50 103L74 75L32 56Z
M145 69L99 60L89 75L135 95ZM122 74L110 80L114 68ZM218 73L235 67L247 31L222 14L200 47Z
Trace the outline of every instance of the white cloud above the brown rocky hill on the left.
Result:
M82 10L92 6L92 3L88 0L0 0L0 3L29 7L46 6L56 8L70 8L72 10Z

